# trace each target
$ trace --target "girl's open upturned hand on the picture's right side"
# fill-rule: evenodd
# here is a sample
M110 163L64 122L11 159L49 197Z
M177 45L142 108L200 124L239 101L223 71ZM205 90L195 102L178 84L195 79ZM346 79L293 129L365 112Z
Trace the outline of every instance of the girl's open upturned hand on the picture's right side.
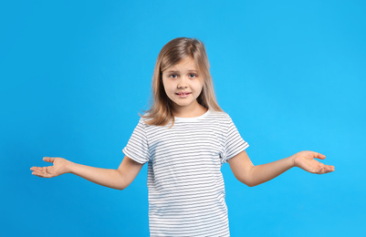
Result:
M290 157L294 161L294 166L306 170L310 173L323 174L334 171L334 166L320 163L314 158L324 160L325 156L314 151L300 151Z

